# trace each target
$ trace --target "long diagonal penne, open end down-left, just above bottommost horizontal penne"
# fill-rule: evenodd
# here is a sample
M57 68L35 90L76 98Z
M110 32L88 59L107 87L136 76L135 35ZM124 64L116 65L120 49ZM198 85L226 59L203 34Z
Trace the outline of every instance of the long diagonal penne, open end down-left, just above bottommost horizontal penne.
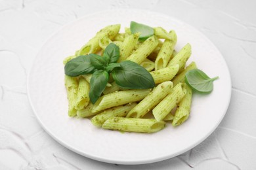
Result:
M154 108L160 101L171 92L173 82L162 82L152 90L140 103L131 109L127 118L142 118L147 112Z

